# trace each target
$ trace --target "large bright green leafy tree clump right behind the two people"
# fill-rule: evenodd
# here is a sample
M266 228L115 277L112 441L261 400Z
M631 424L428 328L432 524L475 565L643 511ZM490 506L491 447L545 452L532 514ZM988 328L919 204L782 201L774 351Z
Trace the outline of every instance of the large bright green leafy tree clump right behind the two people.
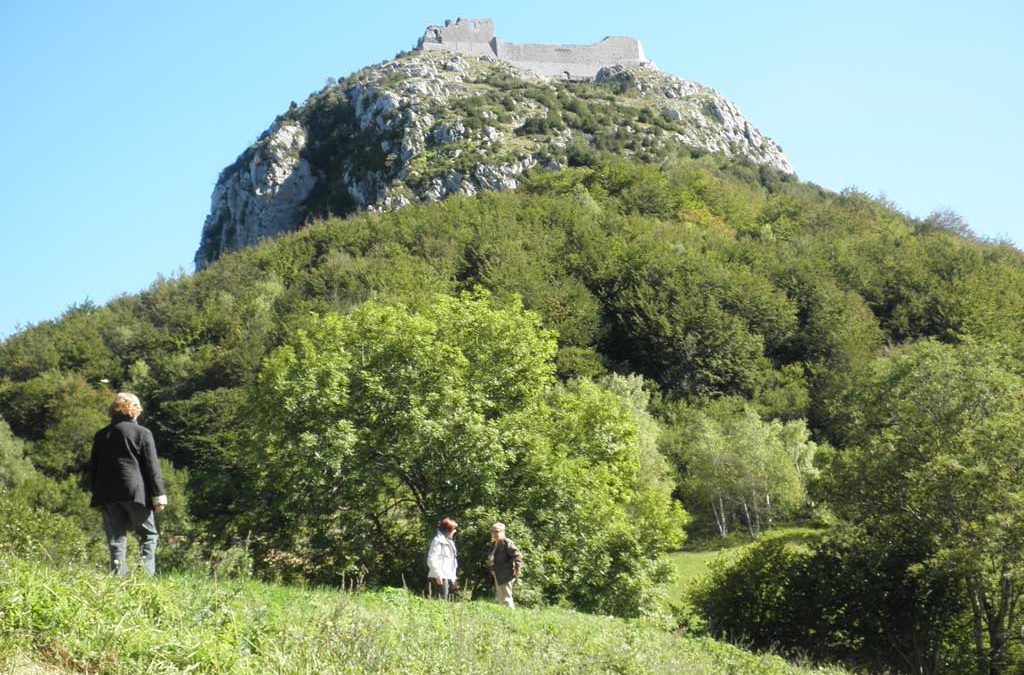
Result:
M231 528L272 571L399 583L422 578L443 515L482 578L502 519L529 557L527 598L649 609L685 522L652 475L651 420L627 395L559 385L555 350L537 315L484 293L311 318L251 389L252 503Z

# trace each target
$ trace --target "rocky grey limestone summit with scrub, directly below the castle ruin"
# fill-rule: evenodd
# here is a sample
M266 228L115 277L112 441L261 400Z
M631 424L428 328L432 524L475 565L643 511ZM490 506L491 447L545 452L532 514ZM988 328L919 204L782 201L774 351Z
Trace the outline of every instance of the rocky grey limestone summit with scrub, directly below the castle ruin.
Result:
M606 68L581 84L417 51L330 84L225 168L196 265L315 218L514 189L529 170L597 152L654 160L684 147L793 173L734 104L654 69Z

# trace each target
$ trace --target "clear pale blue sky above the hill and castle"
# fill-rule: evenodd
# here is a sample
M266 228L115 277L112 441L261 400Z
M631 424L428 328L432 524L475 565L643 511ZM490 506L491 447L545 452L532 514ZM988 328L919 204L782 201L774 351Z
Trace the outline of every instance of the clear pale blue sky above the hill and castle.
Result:
M512 42L641 39L805 180L1024 246L1024 9L929 2L0 2L0 338L190 273L210 195L290 101L490 16Z

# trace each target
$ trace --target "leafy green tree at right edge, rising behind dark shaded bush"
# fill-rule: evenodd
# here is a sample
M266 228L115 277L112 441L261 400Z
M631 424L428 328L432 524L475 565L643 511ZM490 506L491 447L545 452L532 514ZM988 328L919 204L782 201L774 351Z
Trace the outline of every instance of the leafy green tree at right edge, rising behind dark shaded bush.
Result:
M981 672L1004 672L1024 597L1024 377L991 346L924 342L880 366L862 448L833 500L882 541L930 542L914 569L957 579Z

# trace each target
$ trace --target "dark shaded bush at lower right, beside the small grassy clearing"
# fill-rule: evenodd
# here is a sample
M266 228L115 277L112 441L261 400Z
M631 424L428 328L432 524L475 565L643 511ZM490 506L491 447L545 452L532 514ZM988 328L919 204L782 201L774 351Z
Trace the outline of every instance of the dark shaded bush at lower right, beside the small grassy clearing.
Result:
M690 588L712 635L869 672L966 672L965 607L948 580L910 572L920 540L882 545L840 530L766 536Z

